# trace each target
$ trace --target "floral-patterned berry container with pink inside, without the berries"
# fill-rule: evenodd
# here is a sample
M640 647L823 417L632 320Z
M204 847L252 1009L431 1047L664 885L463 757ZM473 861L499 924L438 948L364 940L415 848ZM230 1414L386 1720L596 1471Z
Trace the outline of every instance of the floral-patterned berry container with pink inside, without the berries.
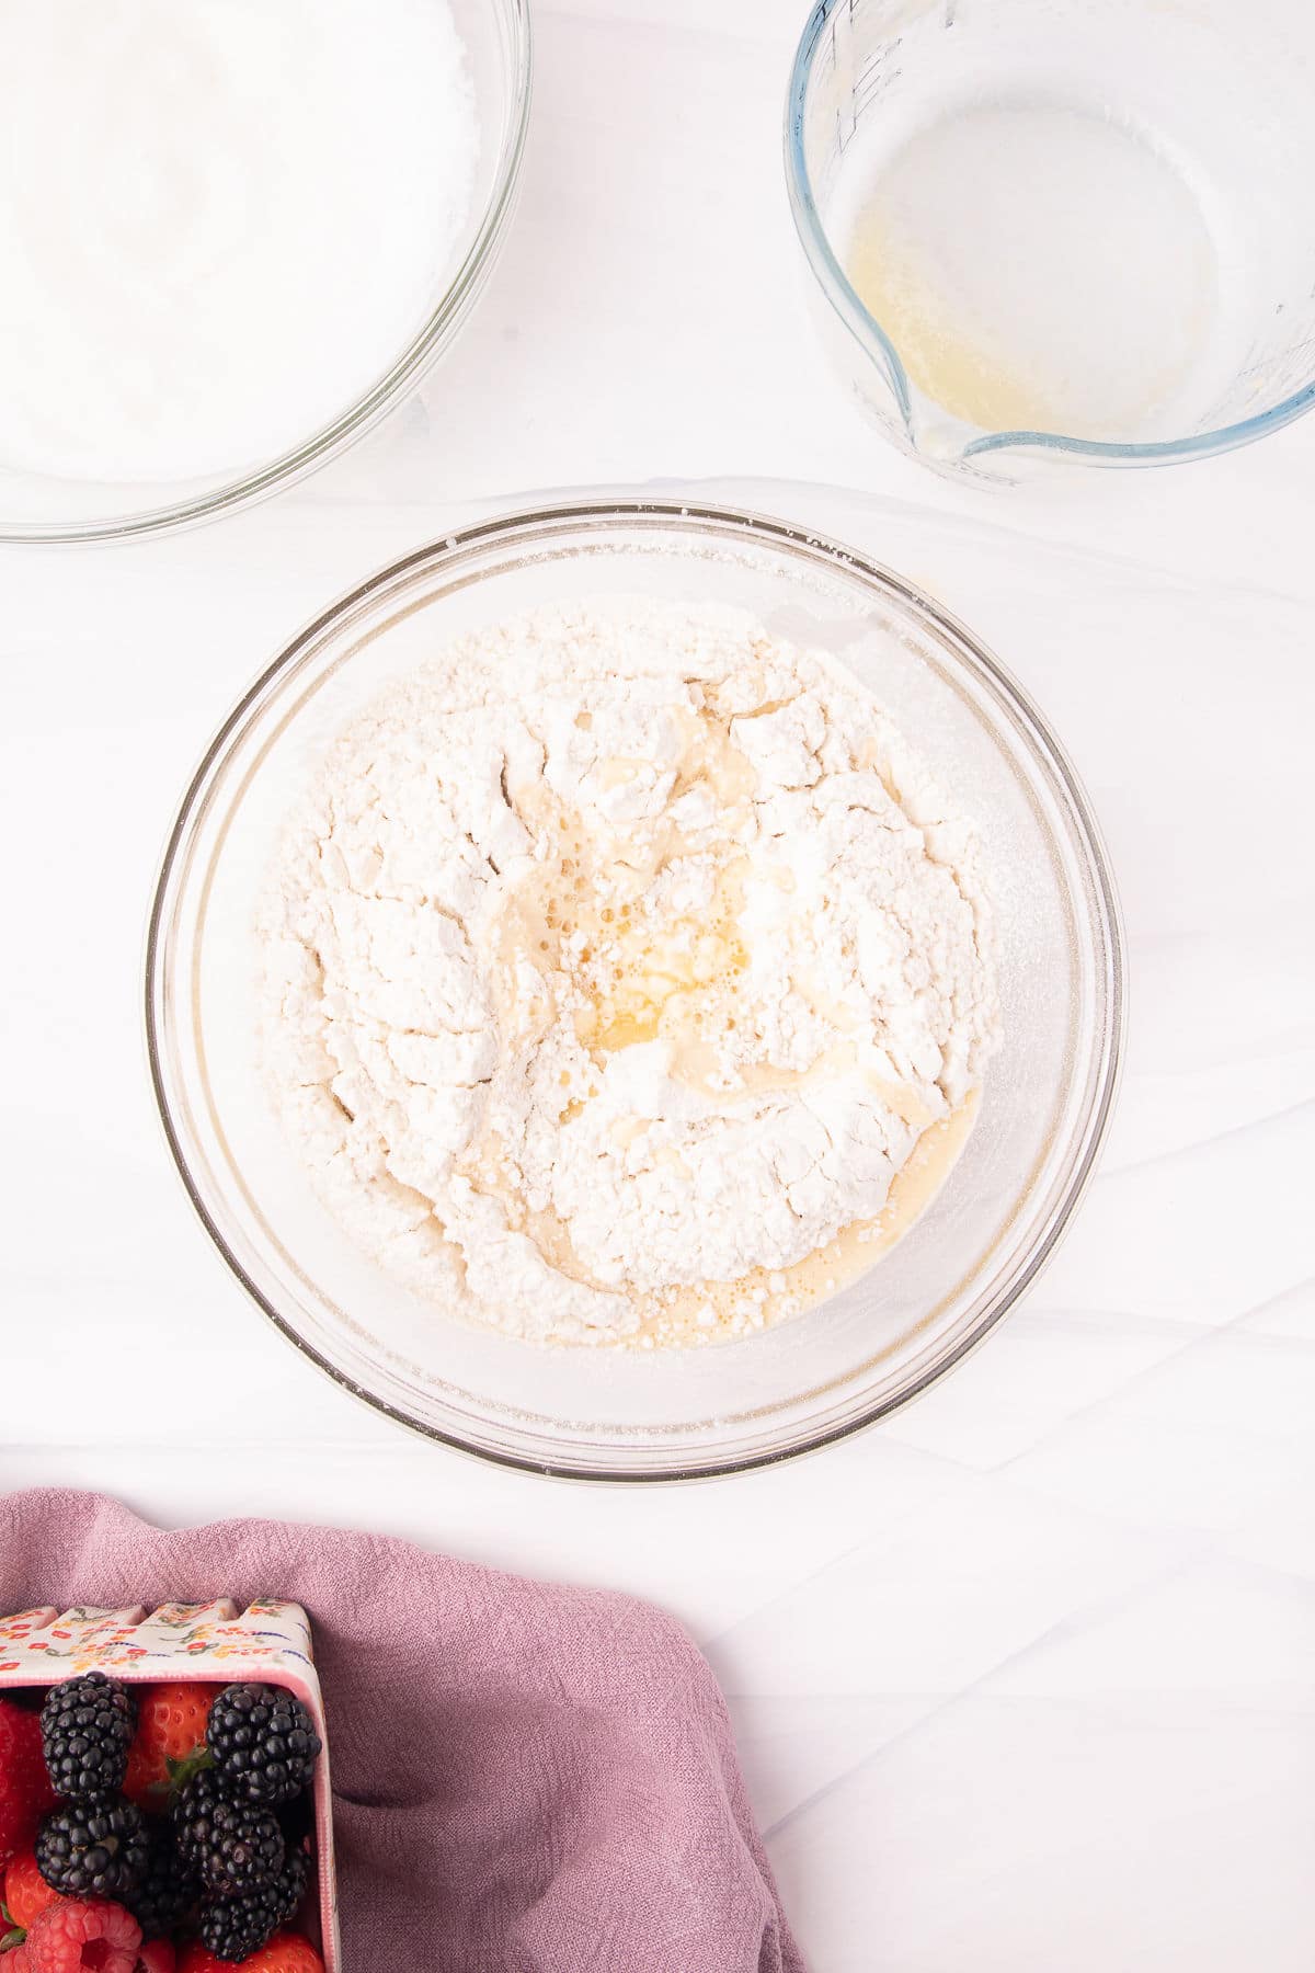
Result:
M22 1610L0 1618L0 1693L61 1685L81 1671L104 1671L124 1685L254 1681L296 1693L323 1746L313 1786L319 1910L311 1930L325 1973L341 1973L329 1736L306 1610L286 1602L254 1602L246 1610L209 1602L158 1610Z

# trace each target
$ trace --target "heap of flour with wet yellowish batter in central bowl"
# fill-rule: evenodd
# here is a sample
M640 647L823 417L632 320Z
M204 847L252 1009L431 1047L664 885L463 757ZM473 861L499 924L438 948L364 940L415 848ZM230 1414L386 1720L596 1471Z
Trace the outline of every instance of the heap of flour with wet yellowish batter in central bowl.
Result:
M258 935L323 1204L542 1342L747 1334L860 1273L998 1030L972 829L858 681L729 610L554 606L388 687Z

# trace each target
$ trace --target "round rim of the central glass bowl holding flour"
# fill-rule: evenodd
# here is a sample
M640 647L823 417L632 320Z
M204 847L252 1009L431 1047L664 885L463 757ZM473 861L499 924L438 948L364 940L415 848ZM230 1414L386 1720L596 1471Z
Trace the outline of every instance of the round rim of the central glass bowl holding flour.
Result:
M1007 1280L1005 1288L994 1298L972 1324L972 1328L954 1340L944 1352L940 1352L934 1361L927 1363L917 1377L909 1381L905 1389L895 1395L887 1395L864 1405L854 1417L844 1419L834 1425L822 1425L806 1430L796 1442L789 1446L767 1446L751 1448L745 1452L727 1454L724 1458L712 1458L702 1462L684 1464L676 1460L672 1464L607 1464L605 1456L599 1460L595 1454L589 1460L562 1460L534 1458L528 1452L515 1452L503 1446L489 1446L463 1438L457 1430L444 1428L424 1419L414 1417L404 1411L398 1403L369 1391L345 1369L333 1363L321 1350L310 1344L298 1328L280 1312L270 1294L252 1279L248 1269L233 1251L223 1227L217 1223L211 1211L201 1184L193 1176L187 1150L183 1142L183 1131L175 1123L172 1097L170 1097L170 1073L166 1067L166 1030L170 1026L170 1004L166 996L164 983L164 955L170 943L172 917L173 917L173 884L183 860L191 833L193 817L197 809L205 803L211 775L223 764L231 738L248 720L248 714L260 704L270 687L274 687L280 675L290 673L298 667L302 657L310 647L333 627L341 618L347 618L361 604L367 604L373 596L386 594L392 586L404 580L408 574L422 566L432 566L442 570L448 562L457 562L471 550L481 550L499 545L513 545L515 541L542 541L550 539L558 529L570 527L599 527L609 525L623 527L653 527L655 531L674 525L698 531L700 527L718 529L726 535L745 539L749 543L761 541L769 547L800 554L814 566L838 568L850 576L860 576L873 582L879 590L891 594L897 602L907 608L921 612L938 629L948 633L948 637L966 647L964 655L972 665L976 665L980 679L992 689L992 693L1002 698L1011 712L1021 718L1033 742L1039 740L1043 748L1045 762L1055 775L1059 793L1063 795L1071 821L1078 831L1078 844L1082 852L1082 870L1090 884L1098 929L1102 933L1102 949L1096 959L1102 961L1102 986L1104 986L1104 1026L1098 1038L1098 1048L1092 1050L1092 1069L1088 1075L1090 1093L1084 1099L1084 1113L1080 1127L1074 1133L1073 1144L1067 1154L1067 1174L1063 1184L1059 1184L1059 1196L1047 1207L1047 1215L1031 1253L1027 1253L1017 1267L1017 1271ZM1126 963L1126 935L1122 908L1118 902L1118 890L1114 886L1114 874L1110 866L1108 848L1090 807L1090 799L1082 781L1078 779L1073 762L1069 760L1065 748L1059 744L1051 732L1049 722L1043 718L1035 706L1031 694L1013 679L1013 675L1000 663L1000 659L984 645L980 639L948 612L940 602L921 590L917 584L909 582L905 576L885 568L885 564L864 554L860 548L840 545L828 535L820 535L814 529L793 525L769 515L753 513L743 507L710 505L696 501L674 501L674 499L578 499L548 503L540 507L515 509L509 513L493 515L489 519L477 521L465 529L453 529L436 541L424 543L412 548L408 554L398 556L384 568L367 576L363 582L355 584L351 590L335 598L325 610L311 618L300 631L296 631L276 653L276 657L258 673L256 679L246 687L235 706L219 724L215 736L205 748L187 787L177 803L173 821L166 839L166 846L160 858L160 868L152 892L150 915L146 923L146 945L144 945L144 965L142 965L142 1014L144 1014L144 1044L146 1044L146 1065L150 1075L152 1097L156 1105L156 1115L164 1131L164 1138L170 1150L172 1164L181 1180L183 1192L191 1200L193 1211L197 1213L201 1225L211 1237L213 1249L225 1261L229 1273L246 1290L250 1300L260 1308L260 1312L272 1322L274 1330L306 1359L310 1359L319 1371L323 1371L339 1389L347 1391L359 1403L367 1405L371 1411L392 1419L396 1425L406 1426L422 1438L450 1446L455 1452L463 1452L469 1458L483 1460L493 1466L511 1468L513 1472L538 1474L558 1480L588 1480L603 1484L631 1486L639 1482L694 1482L694 1480L716 1480L727 1478L737 1472L753 1472L761 1466L779 1466L785 1460L802 1458L808 1452L818 1452L828 1444L842 1438L850 1438L869 1426L893 1417L903 1411L905 1405L921 1397L923 1391L938 1383L950 1369L972 1355L982 1342L996 1330L996 1326L1011 1312L1011 1308L1027 1294L1027 1290L1041 1277L1045 1267L1055 1257L1061 1241L1065 1239L1074 1211L1082 1202L1086 1188L1090 1186L1100 1150L1104 1146L1110 1121L1114 1117L1114 1107L1118 1099L1118 1089L1122 1081L1124 1067L1124 1044L1126 1044L1126 1024L1128 1024L1128 963ZM686 1454L688 1458L688 1454Z

